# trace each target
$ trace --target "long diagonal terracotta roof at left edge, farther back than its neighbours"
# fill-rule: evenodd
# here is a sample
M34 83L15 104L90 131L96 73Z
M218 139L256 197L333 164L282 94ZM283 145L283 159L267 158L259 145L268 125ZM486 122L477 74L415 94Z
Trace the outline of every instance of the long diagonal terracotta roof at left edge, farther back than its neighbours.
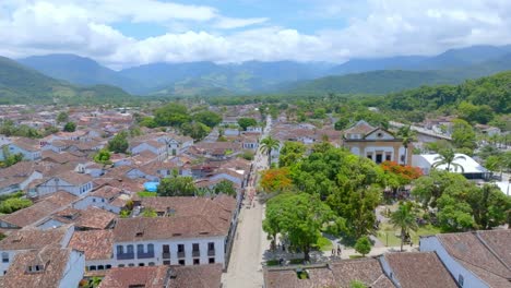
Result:
M78 197L71 193L59 191L39 200L29 207L16 211L12 214L2 215L0 216L0 220L13 224L17 227L25 227L43 220L63 206L71 204Z

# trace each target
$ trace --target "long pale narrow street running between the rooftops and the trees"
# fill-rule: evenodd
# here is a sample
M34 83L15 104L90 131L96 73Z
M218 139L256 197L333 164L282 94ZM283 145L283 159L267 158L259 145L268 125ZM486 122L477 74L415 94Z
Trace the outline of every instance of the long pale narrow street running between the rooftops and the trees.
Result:
M270 129L271 119L269 117L261 139L269 135ZM262 155L258 149L253 165L252 177L255 178L259 171L268 168L266 155ZM238 230L230 254L229 266L227 273L222 275L223 287L226 288L260 288L263 285L261 262L262 254L268 247L268 240L262 231L264 205L261 205L258 197L254 196L255 185L257 181L250 181L246 189L246 199L238 219Z

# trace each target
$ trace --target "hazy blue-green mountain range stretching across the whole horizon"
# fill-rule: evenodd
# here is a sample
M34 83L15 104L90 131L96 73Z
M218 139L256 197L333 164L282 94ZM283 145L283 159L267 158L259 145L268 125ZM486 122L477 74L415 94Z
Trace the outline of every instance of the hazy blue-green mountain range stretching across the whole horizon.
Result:
M20 99L37 96L49 100L81 95L99 97L105 91L114 98L128 96L123 91L155 96L385 94L428 84L457 84L511 70L511 46L472 46L430 57L353 59L342 64L294 61L151 63L115 71L75 55L35 56L16 61L1 58L0 73L7 73L0 79L2 103L12 100L13 95L20 95Z

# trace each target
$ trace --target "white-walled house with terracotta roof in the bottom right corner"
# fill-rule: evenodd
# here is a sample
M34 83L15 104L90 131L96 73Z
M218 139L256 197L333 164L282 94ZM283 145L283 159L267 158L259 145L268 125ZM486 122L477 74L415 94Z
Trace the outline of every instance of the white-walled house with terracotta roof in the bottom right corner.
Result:
M511 230L442 233L420 238L420 251L433 251L459 287L510 287Z

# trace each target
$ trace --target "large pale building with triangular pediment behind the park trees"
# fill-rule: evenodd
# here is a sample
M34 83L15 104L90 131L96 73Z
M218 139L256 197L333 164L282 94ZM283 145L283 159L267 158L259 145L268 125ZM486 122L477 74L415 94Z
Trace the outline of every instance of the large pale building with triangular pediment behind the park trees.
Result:
M376 164L383 161L412 164L412 144L405 148L403 140L382 128L375 128L364 120L344 131L343 146L353 154L367 157Z

